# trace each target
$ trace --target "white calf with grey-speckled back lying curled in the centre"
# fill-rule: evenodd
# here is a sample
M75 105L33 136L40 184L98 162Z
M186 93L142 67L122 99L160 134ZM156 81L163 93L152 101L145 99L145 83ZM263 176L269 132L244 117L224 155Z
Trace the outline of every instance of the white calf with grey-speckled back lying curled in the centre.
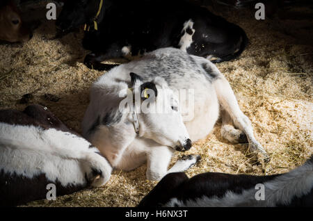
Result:
M178 96L178 92L186 96ZM131 102L125 105L129 94ZM151 109L143 111L147 102ZM154 111L156 106L163 111ZM200 156L185 156L168 170L173 152L188 150L191 140L206 137L218 117L223 120L225 139L248 142L251 152L267 158L217 67L179 49L158 49L114 67L93 84L83 136L113 167L133 170L147 162L147 179L159 180L199 160Z

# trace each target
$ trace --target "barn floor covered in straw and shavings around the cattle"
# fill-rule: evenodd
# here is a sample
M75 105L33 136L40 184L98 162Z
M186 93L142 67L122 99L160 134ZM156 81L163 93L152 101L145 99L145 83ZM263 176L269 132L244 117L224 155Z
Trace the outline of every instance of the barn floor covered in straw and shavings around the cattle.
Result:
M212 8L211 8L212 9ZM248 49L237 60L218 64L248 115L255 136L271 156L257 164L246 156L246 145L232 145L220 136L220 123L187 154L201 154L202 161L186 173L278 174L301 165L313 154L312 73L313 22L310 8L289 8L288 19L278 13L257 21L250 10L214 8L216 14L239 24L250 38ZM300 15L300 16L299 16ZM305 18L307 15L307 19ZM88 51L81 46L82 31L57 40L54 22L41 24L24 45L0 44L0 108L23 110L22 95L31 93L29 104L47 106L65 124L81 131L88 105L88 88L102 72L81 62ZM56 95L50 101L44 95ZM174 163L181 153L172 159ZM131 172L115 171L101 188L40 200L25 206L136 206L157 184L145 179L146 166Z

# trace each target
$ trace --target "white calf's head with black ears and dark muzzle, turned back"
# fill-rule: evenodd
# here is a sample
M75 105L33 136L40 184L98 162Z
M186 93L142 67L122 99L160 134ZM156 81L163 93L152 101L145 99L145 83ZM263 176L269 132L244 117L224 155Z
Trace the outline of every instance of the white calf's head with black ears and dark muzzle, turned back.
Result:
M178 151L190 149L191 140L179 112L179 100L168 83L161 77L143 82L141 76L134 73L130 75L136 106L133 114L135 118L138 116L138 136Z

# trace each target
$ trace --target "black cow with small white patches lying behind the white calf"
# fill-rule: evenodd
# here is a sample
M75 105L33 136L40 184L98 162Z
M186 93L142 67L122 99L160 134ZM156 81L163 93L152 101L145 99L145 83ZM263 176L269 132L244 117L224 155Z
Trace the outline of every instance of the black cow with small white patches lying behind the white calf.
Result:
M175 47L188 54L215 57L215 63L238 57L248 44L246 33L206 8L182 0L68 0L56 25L64 32L85 26L85 64L129 58Z

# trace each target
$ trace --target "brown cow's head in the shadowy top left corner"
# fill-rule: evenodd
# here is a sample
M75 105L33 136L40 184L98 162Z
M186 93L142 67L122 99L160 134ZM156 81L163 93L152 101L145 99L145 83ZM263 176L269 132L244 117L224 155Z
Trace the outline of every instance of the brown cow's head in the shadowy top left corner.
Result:
M30 29L22 22L17 7L9 2L0 8L0 40L26 42L32 37Z

